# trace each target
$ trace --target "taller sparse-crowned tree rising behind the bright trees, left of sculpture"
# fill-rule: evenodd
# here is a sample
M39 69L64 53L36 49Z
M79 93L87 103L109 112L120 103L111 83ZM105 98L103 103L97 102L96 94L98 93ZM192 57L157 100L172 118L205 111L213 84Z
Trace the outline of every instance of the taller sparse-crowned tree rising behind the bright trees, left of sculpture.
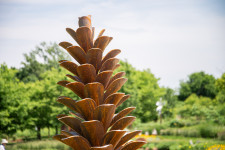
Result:
M41 73L51 70L51 68L59 69L59 60L70 60L70 56L56 43L46 44L45 42L36 46L35 50L30 53L24 54L24 57L23 67L19 69L16 75L25 83L42 80Z

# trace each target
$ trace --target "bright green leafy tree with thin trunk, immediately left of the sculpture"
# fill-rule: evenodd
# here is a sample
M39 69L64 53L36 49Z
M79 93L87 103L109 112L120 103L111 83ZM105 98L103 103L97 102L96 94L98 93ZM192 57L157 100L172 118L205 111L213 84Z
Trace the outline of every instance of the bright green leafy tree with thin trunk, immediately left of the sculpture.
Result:
M64 77L66 73L67 71L65 70L52 68L52 70L48 70L40 75L43 80L27 83L30 93L28 112L31 116L28 121L30 124L27 124L27 127L37 129L38 139L41 139L41 129L45 127L48 129L54 127L57 133L61 123L57 121L56 116L59 113L68 113L66 107L56 102L57 97L63 94L71 95L71 97L73 96L74 99L77 99L77 96L74 96L70 90L56 84L59 78L62 80L67 79Z

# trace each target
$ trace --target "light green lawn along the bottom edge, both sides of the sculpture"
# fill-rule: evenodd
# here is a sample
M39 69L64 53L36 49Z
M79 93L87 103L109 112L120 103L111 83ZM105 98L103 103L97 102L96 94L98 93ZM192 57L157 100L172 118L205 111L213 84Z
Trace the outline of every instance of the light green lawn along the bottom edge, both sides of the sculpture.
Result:
M183 136L145 136L148 144L144 147L153 149L157 147L158 150L202 150L212 145L225 144L225 141L212 138L192 138ZM138 137L136 137L138 138ZM190 144L192 140L193 145ZM197 143L197 144L196 144ZM71 150L65 144L56 140L45 139L42 141L28 141L24 143L11 143L6 146L10 150Z

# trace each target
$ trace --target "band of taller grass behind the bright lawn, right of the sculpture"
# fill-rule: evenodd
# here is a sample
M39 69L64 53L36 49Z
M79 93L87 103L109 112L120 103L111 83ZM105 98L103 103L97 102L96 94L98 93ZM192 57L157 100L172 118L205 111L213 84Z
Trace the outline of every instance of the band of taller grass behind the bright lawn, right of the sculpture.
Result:
M183 125L176 126L176 124ZM206 121L169 120L164 121L162 124L158 122L148 122L138 124L136 128L142 130L143 133L148 132L149 134L156 129L158 135L225 139L225 126Z

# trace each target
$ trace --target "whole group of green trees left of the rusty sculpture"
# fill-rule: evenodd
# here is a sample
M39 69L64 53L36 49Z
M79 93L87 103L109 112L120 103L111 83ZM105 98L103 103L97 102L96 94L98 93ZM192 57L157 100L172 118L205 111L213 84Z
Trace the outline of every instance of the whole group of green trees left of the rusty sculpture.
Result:
M41 128L57 129L59 122L55 116L65 112L65 107L59 109L63 106L55 99L66 90L56 80L65 79L67 73L59 68L58 61L69 58L55 43L44 42L24 56L19 70L1 65L0 132L13 134L19 129L36 128L40 138Z

